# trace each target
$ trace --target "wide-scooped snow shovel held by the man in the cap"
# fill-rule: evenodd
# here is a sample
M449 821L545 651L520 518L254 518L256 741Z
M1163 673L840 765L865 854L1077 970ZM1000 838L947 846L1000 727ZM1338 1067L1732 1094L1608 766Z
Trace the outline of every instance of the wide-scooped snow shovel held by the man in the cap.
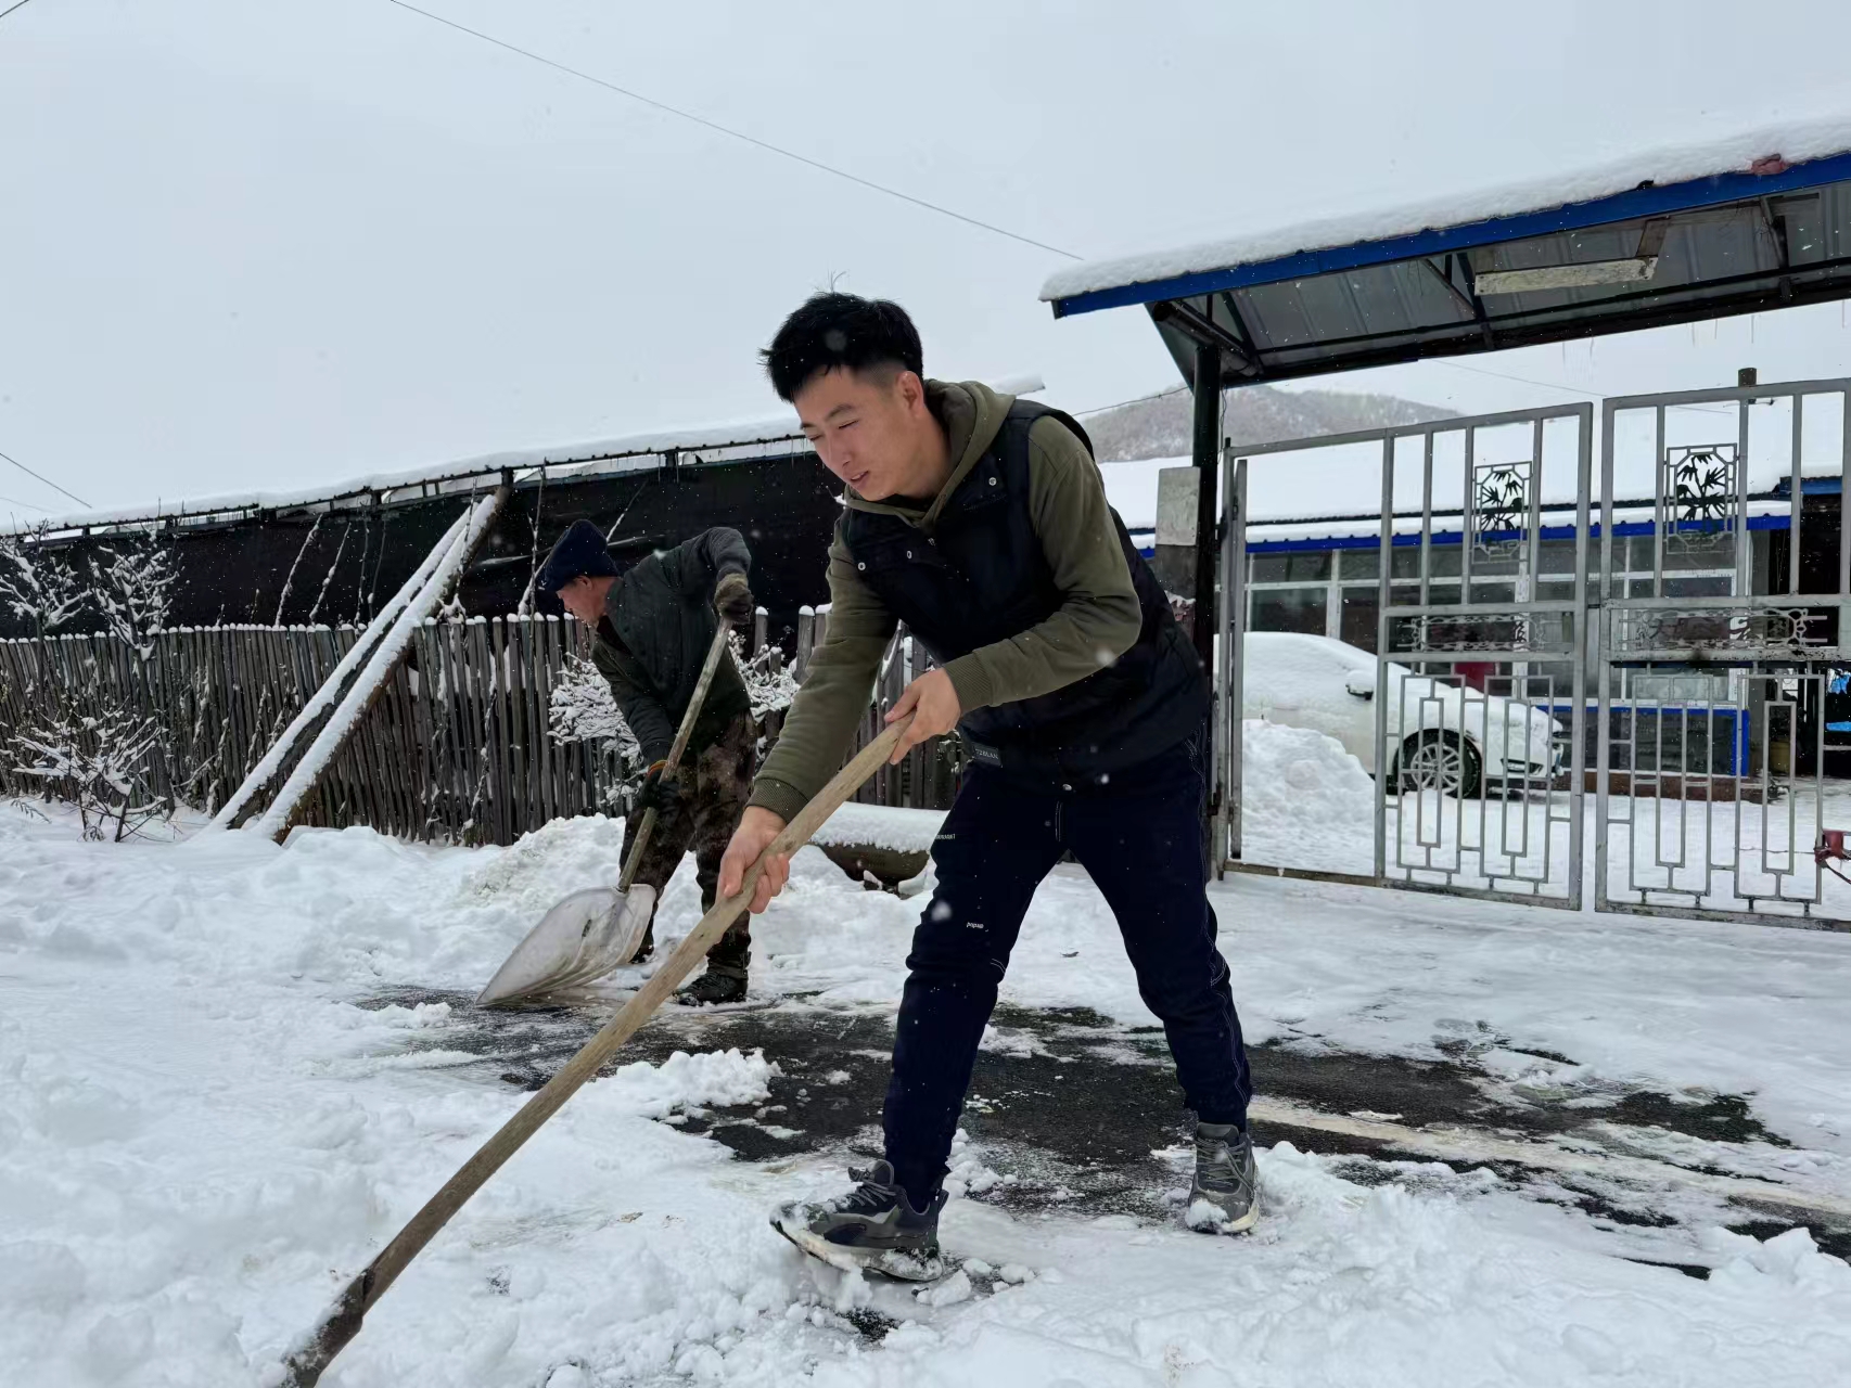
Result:
M694 696L681 714L681 727L668 748L668 761L663 762L663 779L670 779L681 766L681 753L687 751L689 737L694 735L694 722L707 701L707 687L713 685L713 672L720 668L720 655L733 627L726 618L714 627L713 646L707 648L707 663L700 668L694 683ZM555 905L540 923L528 931L528 938L515 946L515 953L494 972L489 986L476 998L478 1007L516 1007L546 994L578 988L602 979L613 968L627 964L642 944L642 933L650 927L655 911L655 888L644 883L637 886L637 868L642 866L642 853L655 833L655 807L642 812L637 825L637 842L629 846L624 859L624 875L616 886L592 886L574 892Z

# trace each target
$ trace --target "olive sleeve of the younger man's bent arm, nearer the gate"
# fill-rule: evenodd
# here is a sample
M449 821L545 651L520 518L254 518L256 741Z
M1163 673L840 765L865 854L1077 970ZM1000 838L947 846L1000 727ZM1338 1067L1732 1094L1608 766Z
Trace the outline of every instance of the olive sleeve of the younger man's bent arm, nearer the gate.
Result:
M1085 679L1131 650L1142 627L1099 465L1055 418L1029 429L1029 513L1064 600L1027 631L944 666L964 713Z

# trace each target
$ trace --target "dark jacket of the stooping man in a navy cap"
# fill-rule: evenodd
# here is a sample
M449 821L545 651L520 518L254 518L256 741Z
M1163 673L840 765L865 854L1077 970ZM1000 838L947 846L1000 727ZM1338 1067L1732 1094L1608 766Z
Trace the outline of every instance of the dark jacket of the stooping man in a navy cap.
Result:
M668 755L687 713L720 618L713 589L724 574L744 574L752 551L737 529L714 526L674 550L639 561L611 585L592 663L611 681L624 722L655 762ZM727 651L707 687L707 703L689 738L689 753L713 746L727 724L752 711L739 666Z

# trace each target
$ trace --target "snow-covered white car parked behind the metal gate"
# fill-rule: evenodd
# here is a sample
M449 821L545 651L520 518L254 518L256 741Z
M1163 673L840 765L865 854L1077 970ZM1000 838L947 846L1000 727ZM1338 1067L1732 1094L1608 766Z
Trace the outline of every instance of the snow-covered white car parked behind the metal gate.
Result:
M1375 657L1329 637L1246 635L1242 716L1335 737L1375 774ZM1562 725L1522 700L1462 690L1386 666L1388 783L1475 796L1486 787L1547 788L1562 770Z

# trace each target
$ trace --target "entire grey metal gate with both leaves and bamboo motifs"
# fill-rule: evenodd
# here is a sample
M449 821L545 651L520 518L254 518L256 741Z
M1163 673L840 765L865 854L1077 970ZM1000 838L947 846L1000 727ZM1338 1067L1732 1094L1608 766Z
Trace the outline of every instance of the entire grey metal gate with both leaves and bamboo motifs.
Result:
M1596 911L1851 929L1851 379L1609 400L1597 483L1592 433L1225 452L1224 868L1577 909L1592 866Z

